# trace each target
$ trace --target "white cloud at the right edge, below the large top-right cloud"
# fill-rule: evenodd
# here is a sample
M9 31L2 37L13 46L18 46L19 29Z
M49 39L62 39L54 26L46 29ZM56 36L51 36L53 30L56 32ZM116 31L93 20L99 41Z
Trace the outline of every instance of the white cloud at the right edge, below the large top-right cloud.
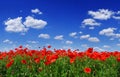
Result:
M119 33L114 33L115 30L117 30L117 28L107 28L107 29L101 30L99 32L99 34L109 36L109 37L112 37L112 38L120 38Z

